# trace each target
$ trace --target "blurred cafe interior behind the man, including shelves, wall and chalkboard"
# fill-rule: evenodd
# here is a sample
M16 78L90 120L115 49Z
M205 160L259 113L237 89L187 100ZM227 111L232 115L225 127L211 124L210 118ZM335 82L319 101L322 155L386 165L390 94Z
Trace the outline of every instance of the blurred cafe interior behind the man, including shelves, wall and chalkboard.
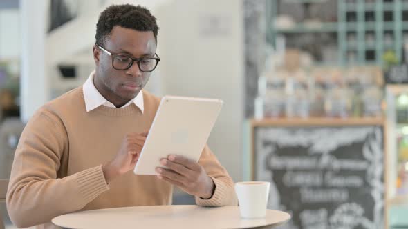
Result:
M278 228L408 228L407 0L0 0L0 179L35 110L89 77L113 3L158 19L146 90L223 99L208 144L271 182Z

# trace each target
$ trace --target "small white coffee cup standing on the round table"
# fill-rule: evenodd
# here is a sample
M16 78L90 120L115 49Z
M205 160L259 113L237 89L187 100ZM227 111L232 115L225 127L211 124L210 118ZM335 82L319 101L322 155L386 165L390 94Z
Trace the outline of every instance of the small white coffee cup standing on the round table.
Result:
M266 215L270 182L250 181L235 183L241 217L252 219Z

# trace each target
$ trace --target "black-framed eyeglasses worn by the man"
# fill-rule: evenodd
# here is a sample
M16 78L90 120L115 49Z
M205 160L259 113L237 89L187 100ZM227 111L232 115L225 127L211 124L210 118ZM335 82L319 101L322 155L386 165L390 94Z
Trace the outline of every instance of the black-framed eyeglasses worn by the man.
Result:
M133 62L136 61L136 63L138 63L140 71L152 72L156 68L158 61L160 61L160 57L158 57L158 54L156 53L155 53L156 57L133 58L109 52L108 50L102 48L102 46L99 46L96 43L95 46L97 46L100 50L106 52L106 54L109 54L109 56L111 56L112 67L115 68L116 70L127 70L133 65Z

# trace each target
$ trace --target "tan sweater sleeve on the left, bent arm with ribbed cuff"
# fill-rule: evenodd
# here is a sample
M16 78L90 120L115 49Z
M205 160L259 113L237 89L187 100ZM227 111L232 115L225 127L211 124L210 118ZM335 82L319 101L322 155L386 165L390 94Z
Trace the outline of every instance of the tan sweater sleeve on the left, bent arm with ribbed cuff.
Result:
M39 110L21 134L6 196L8 213L19 228L80 210L109 187L102 166L58 178L68 136L53 112Z

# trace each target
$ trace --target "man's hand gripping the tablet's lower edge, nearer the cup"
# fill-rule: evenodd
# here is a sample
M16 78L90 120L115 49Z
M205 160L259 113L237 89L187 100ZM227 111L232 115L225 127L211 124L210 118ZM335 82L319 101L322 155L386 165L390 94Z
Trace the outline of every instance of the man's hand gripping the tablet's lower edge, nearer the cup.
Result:
M208 177L203 166L179 155L169 155L160 163L166 168L156 168L158 179L180 187L190 195L209 199L214 192L214 182Z

